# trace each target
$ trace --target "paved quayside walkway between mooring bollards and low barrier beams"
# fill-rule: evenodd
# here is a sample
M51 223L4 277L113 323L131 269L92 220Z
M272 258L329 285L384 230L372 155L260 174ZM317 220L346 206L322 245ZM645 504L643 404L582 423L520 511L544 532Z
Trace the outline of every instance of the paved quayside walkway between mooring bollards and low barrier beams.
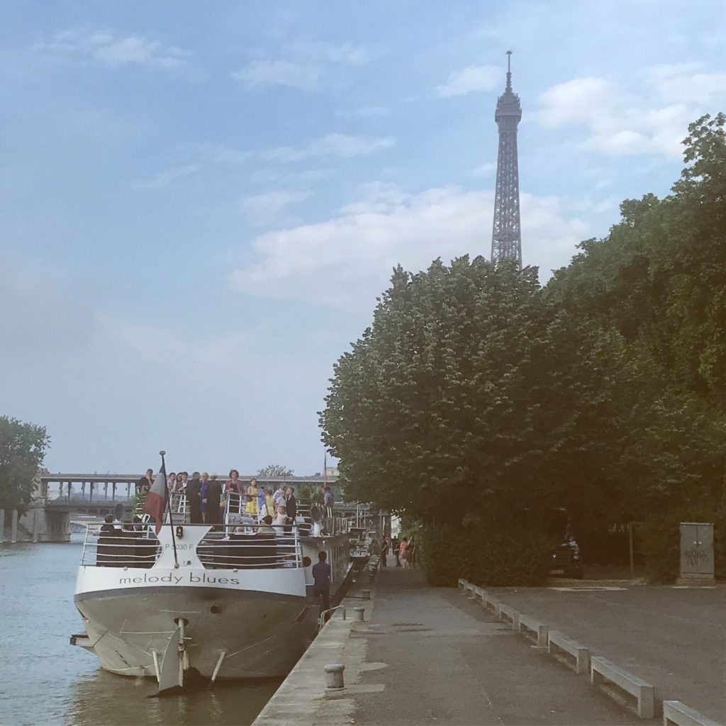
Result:
M371 692L354 694L363 726L657 723L637 719L457 590L426 587L417 571L383 569L372 619L350 637L367 645L361 682Z

